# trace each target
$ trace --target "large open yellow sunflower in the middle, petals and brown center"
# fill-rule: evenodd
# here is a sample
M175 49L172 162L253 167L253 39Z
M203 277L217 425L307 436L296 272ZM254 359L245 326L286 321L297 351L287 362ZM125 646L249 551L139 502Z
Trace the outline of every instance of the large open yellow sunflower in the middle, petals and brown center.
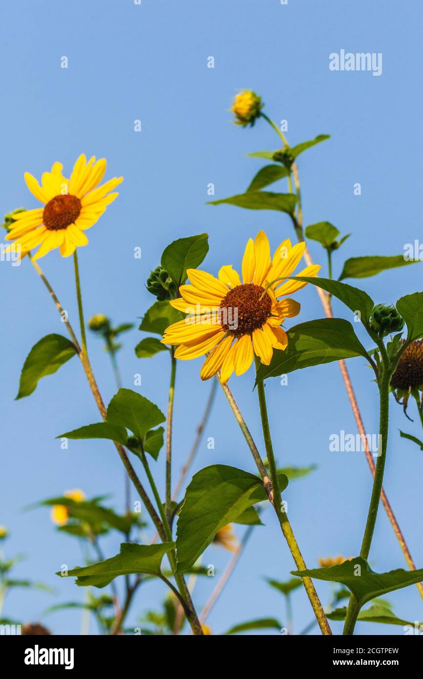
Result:
M269 365L274 349L287 348L287 333L280 327L284 319L299 314L297 301L280 297L306 285L299 280L282 282L291 276L305 247L304 242L291 246L287 238L271 259L268 237L260 231L246 244L242 282L232 265L223 266L218 278L188 269L191 285L181 285L181 297L170 304L189 316L170 325L162 343L179 345L174 356L184 361L210 352L200 371L202 380L220 370L225 384L234 371L242 375L249 369L254 354ZM316 276L319 269L307 266L298 276Z

